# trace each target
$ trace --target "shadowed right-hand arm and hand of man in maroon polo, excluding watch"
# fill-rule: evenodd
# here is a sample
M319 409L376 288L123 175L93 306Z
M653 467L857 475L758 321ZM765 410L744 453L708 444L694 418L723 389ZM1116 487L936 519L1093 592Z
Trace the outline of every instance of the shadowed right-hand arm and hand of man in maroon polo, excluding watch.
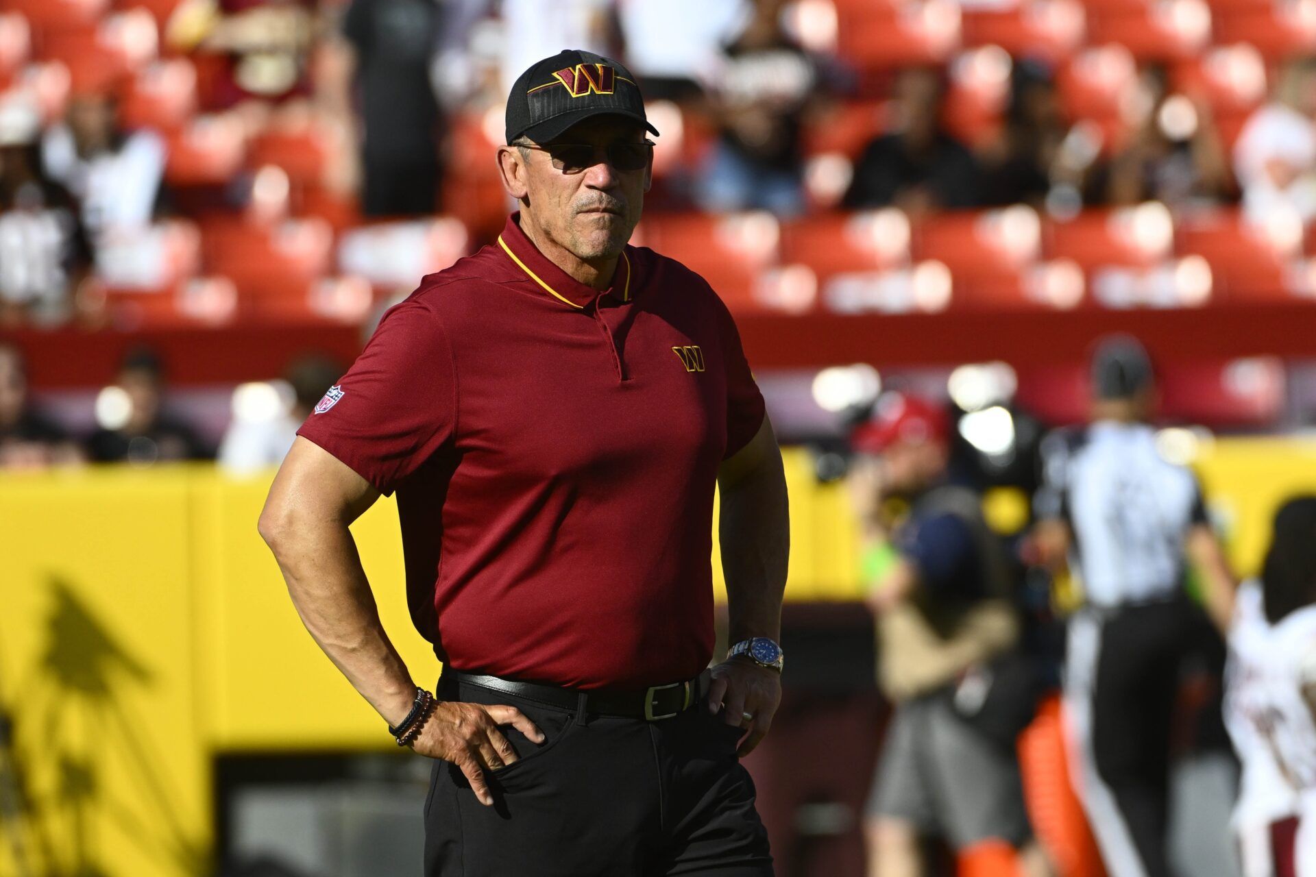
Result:
M791 535L782 452L766 415L754 438L722 462L717 489L729 642L753 636L779 640ZM746 655L713 668L708 707L716 713L724 705L726 723L746 727L749 734L738 752L742 756L767 734L780 701L782 676L776 669Z

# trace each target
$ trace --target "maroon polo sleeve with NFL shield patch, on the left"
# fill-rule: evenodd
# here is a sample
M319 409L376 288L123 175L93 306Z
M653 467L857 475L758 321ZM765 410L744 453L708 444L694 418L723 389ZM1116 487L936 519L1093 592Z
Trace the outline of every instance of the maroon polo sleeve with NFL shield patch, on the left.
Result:
M443 325L404 301L316 406L297 435L351 467L384 494L457 430L457 368Z

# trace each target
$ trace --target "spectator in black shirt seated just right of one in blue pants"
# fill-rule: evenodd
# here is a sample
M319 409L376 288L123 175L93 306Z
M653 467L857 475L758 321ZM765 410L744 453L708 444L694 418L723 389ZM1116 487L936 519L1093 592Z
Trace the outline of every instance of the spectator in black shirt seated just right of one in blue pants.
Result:
M937 208L978 206L979 167L970 151L941 126L941 75L911 68L896 78L891 131L879 135L854 166L842 204L895 205L911 216Z

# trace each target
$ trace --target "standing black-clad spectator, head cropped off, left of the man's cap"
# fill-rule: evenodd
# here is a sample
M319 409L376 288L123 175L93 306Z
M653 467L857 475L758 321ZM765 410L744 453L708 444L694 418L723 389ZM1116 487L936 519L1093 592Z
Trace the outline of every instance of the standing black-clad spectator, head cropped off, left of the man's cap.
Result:
M353 0L343 36L355 50L365 126L366 216L422 216L438 195L441 118L429 68L438 43L434 0Z

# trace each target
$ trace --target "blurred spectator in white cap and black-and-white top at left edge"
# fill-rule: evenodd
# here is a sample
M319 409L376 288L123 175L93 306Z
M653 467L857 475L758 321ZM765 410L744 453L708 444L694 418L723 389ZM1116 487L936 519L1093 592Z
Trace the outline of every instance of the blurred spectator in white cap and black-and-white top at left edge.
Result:
M0 325L57 320L87 264L68 193L42 174L36 109L0 104Z

